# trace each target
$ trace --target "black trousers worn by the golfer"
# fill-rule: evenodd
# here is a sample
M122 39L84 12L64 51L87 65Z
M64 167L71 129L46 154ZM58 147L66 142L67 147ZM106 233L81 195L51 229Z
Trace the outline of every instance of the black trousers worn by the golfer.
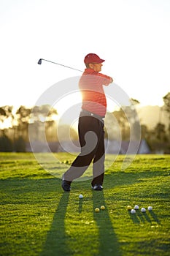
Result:
M87 170L93 160L93 181L95 184L103 184L104 180L104 121L98 116L90 116L90 113L80 113L79 140L81 152L72 163L69 170L63 175L63 179L71 182L79 178Z

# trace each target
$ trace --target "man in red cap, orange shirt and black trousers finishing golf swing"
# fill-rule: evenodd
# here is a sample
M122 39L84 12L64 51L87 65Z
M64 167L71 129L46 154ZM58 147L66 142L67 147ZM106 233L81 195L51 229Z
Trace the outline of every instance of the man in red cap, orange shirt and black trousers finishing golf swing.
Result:
M67 192L71 189L72 181L82 176L92 161L92 189L103 189L104 117L107 112L107 99L103 86L108 86L113 80L100 73L104 59L100 59L95 53L85 56L84 62L86 68L79 81L82 94L82 110L78 124L81 151L69 170L63 174L62 187Z

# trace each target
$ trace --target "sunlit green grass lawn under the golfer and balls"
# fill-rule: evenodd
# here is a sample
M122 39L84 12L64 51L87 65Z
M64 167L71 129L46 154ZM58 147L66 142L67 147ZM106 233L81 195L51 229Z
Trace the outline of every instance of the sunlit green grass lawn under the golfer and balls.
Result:
M61 172L62 161L55 165ZM119 156L107 168L103 192L87 180L67 193L33 154L1 153L0 255L169 255L170 156L139 155L124 171L122 164ZM126 206L135 204L153 211L130 214Z

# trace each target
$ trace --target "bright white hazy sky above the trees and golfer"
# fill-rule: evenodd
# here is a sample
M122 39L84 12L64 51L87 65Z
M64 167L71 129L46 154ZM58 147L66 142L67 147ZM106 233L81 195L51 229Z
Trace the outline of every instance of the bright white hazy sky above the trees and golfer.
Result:
M169 0L0 0L0 106L34 106L50 86L81 75L39 65L40 58L83 70L88 53L106 60L101 72L129 97L163 105L170 91L169 28ZM66 97L58 110L70 104Z

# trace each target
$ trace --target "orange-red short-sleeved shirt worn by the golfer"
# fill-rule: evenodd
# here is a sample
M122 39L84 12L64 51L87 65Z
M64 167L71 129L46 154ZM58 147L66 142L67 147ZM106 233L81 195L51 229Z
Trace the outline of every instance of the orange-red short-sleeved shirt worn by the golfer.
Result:
M107 99L103 86L112 83L112 78L93 69L85 69L80 78L79 87L82 94L82 109L98 116L105 116Z

